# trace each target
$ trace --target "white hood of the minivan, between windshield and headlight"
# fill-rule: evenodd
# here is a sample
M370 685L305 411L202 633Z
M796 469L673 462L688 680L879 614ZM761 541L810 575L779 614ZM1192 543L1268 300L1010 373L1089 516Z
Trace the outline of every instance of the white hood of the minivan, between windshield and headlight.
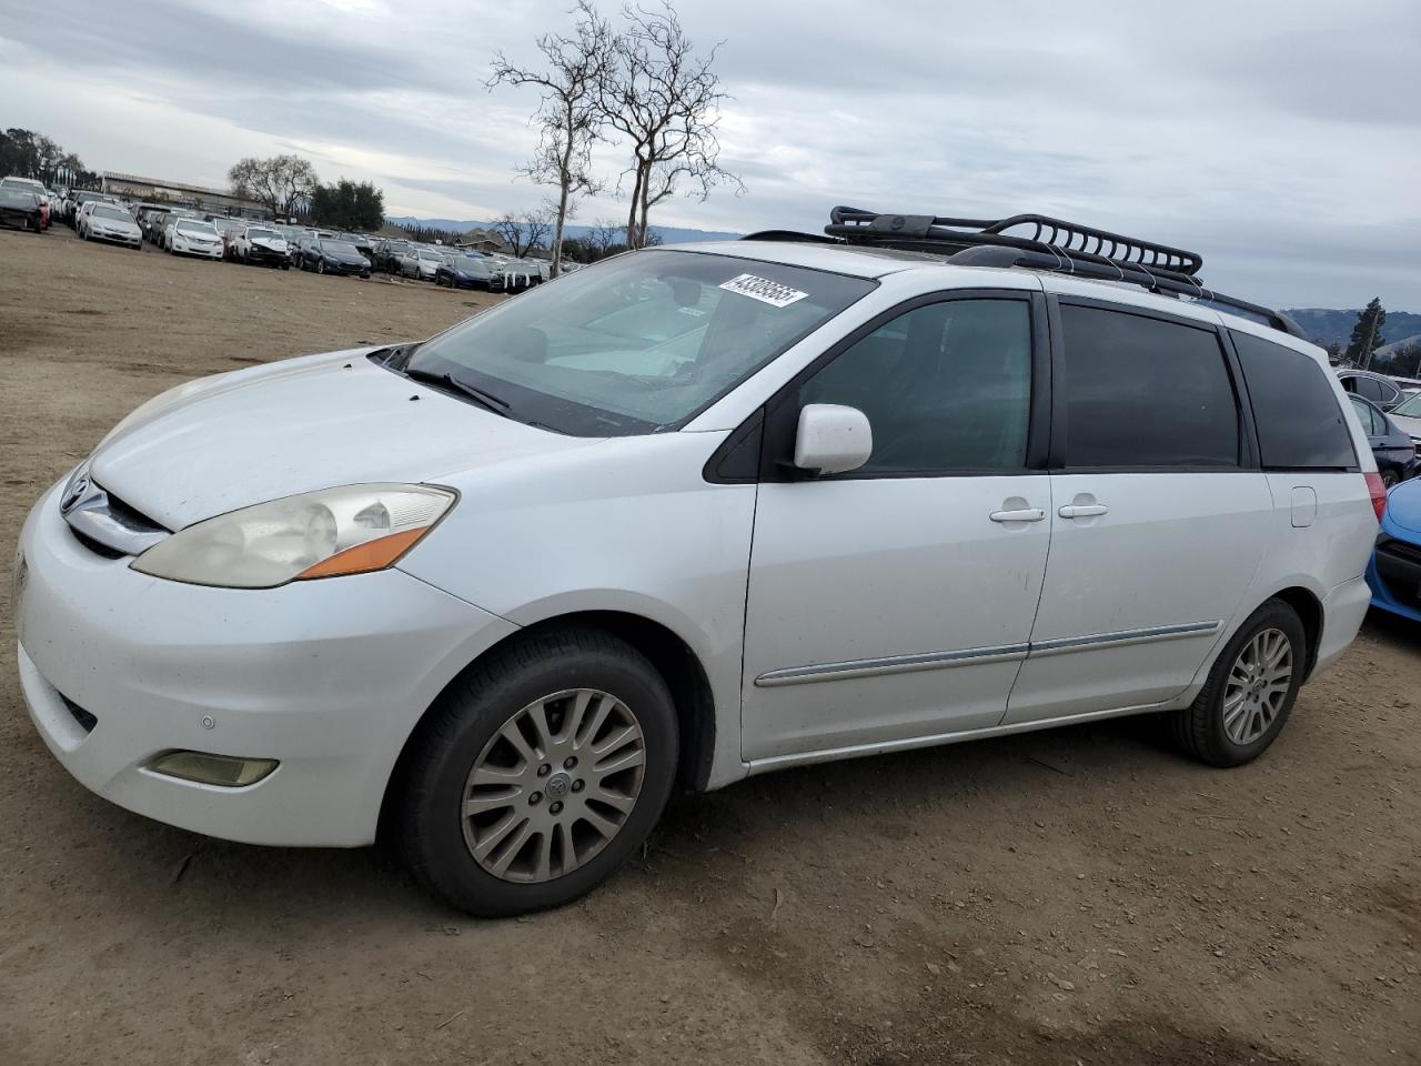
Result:
M105 441L94 479L168 529L300 492L441 482L597 443L503 418L371 362L372 348L223 374ZM419 397L411 401L411 397Z

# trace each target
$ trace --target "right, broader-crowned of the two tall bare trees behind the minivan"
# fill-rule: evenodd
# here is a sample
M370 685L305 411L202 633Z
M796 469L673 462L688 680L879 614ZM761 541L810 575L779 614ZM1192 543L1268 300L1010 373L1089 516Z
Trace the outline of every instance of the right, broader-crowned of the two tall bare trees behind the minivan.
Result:
M679 186L703 200L716 185L745 185L719 163L716 126L728 95L710 70L716 48L698 58L666 0L649 11L627 6L622 16L627 28L614 38L600 104L607 124L631 142L624 176L631 178L627 244L635 249L647 244L651 209Z

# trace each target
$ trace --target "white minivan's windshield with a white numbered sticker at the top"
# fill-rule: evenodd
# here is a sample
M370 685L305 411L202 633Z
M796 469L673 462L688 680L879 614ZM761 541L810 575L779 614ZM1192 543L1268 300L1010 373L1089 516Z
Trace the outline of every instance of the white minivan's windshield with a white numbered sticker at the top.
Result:
M605 260L422 344L411 368L574 436L675 426L875 283L695 252Z

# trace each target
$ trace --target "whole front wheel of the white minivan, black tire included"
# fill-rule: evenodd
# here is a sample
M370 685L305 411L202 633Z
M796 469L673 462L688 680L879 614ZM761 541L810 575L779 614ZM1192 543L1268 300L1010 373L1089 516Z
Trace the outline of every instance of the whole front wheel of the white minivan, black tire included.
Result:
M469 914L570 903L651 833L678 745L666 682L630 644L593 628L520 640L465 671L412 738L405 861Z

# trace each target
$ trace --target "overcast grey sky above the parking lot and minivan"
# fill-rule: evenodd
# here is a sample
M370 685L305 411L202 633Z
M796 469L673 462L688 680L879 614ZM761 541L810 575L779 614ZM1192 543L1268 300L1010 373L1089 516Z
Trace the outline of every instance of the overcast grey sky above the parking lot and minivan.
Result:
M604 3L612 13L615 3ZM571 0L0 0L0 126L94 169L225 186L300 152L391 215L487 219ZM817 232L836 203L1044 212L1204 253L1216 289L1287 307L1421 311L1421 0L681 0L733 94L743 196L652 222ZM610 176L614 145L600 154ZM625 216L611 198L578 220Z

